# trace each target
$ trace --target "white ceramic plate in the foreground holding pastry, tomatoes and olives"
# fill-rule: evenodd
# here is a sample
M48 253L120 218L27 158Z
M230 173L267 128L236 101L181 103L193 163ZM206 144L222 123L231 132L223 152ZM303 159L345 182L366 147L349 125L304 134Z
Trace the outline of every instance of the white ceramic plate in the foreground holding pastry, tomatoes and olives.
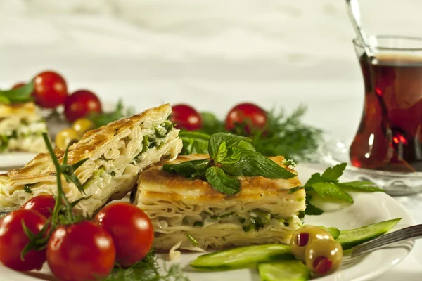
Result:
M300 179L303 183L314 174L320 172L307 166L298 166ZM346 180L343 178L343 180ZM369 223L385 221L392 218L402 218L394 230L415 224L415 221L392 197L381 193L353 193L354 204L343 208L325 212L321 216L305 216L305 223L317 226L334 226L340 230L357 228ZM320 281L343 281L343 280L372 280L374 277L385 273L388 269L402 261L411 251L413 242L396 244L395 247L382 249L366 256L362 261L349 268L340 268L338 272L318 280ZM199 254L182 254L179 263L184 268L191 281L219 281L219 280L241 280L259 281L260 277L255 268L232 270L217 273L199 273L189 268L188 263L193 261ZM166 261L167 255L160 255L159 263L170 263ZM167 264L167 266L169 266ZM37 273L18 273L0 265L0 276L2 281L15 280L55 280L47 266Z

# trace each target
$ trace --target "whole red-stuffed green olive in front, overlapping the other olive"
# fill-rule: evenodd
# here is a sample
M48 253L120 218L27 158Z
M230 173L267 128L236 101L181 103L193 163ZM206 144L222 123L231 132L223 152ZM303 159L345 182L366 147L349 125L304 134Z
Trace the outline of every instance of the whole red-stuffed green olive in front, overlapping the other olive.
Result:
M305 264L316 276L338 270L342 260L343 248L335 240L315 240L305 251Z

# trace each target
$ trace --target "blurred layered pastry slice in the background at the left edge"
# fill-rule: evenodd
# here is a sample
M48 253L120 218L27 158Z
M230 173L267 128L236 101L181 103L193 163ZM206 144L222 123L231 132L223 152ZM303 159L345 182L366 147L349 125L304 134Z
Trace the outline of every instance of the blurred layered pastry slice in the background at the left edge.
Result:
M0 153L46 152L43 131L46 131L46 123L34 103L0 103Z

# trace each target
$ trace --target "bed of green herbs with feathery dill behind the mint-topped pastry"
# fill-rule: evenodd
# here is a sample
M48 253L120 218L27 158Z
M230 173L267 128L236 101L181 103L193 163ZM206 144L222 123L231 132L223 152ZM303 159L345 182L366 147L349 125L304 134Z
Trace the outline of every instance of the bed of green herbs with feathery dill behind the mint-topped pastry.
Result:
M302 123L302 117L306 107L300 106L291 115L286 115L283 110L267 112L267 126L260 130L249 132L245 130L245 124L236 124L234 130L228 131L224 122L220 121L210 112L203 112L203 129L193 133L205 133L210 136L213 133L227 132L236 133L240 136L248 136L251 142L245 142L250 149L260 152L264 156L283 155L286 159L311 161L321 141L322 131ZM184 134L186 133L186 135ZM181 154L207 153L203 141L204 135L195 135L192 132L182 131L181 139L184 147Z

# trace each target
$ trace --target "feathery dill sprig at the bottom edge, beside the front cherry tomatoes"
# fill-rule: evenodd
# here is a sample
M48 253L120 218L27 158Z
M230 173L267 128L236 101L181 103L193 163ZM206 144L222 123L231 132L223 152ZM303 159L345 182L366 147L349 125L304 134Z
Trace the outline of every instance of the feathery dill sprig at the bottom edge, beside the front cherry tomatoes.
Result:
M189 279L184 275L179 264L173 264L168 270L165 268L160 270L157 256L151 250L142 261L129 268L115 266L104 281L189 281Z

